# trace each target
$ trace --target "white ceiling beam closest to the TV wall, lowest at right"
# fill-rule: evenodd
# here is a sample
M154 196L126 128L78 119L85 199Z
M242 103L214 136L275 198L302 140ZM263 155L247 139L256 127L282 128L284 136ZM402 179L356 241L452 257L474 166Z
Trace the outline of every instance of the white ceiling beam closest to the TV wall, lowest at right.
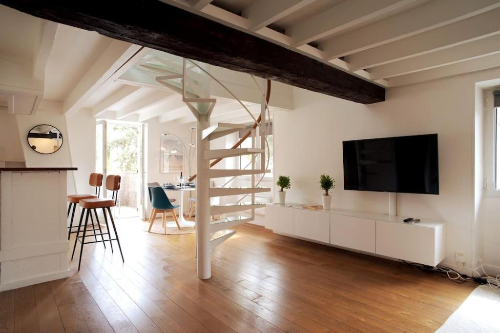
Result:
M459 63L453 63L447 66L441 66L406 75L395 76L387 79L387 81L389 82L389 86L391 87L401 86L499 66L500 54L496 53L476 59L462 61Z

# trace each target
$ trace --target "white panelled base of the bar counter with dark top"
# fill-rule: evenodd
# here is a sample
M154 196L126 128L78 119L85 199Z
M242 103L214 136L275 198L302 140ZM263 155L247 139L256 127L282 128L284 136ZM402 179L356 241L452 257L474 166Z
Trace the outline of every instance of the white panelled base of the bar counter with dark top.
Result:
M69 276L66 171L0 171L0 291Z

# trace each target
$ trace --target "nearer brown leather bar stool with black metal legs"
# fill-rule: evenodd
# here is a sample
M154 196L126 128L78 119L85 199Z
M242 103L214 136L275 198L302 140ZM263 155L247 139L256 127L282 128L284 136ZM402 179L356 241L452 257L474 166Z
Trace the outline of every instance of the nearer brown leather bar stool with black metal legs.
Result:
M109 175L106 177L106 189L109 191L112 191L111 199L109 199L109 198L88 198L88 199L82 199L79 202L79 205L81 208L80 222L78 223L78 230L76 231L76 237L74 239L73 253L71 254L71 260L73 260L74 250L76 249L76 242L80 242L81 246L80 246L80 258L78 260L78 271L80 270L80 265L81 265L81 255L83 253L83 244L91 244L91 243L104 244L104 242L109 242L109 245L111 246L111 252L113 252L113 245L112 245L111 241L116 241L116 243L118 243L118 249L120 250L121 260L123 262L125 262L125 260L123 259L123 253L121 252L121 246L120 246L120 241L118 239L118 233L116 232L116 226L114 225L114 220L113 220L113 216L111 214L111 209L110 209L111 207L116 206L116 201L118 200L118 191L120 189L120 181L121 181L120 176ZM95 210L98 208L102 209L102 213L104 215L104 221L106 223L107 232L103 233L100 230L100 227L98 229L96 229L96 228L89 229L88 231L93 231L93 234L90 236L94 236L95 240L85 242L85 238L88 237L88 235L86 235L86 232L87 232L89 213L92 209L95 212ZM111 225L113 227L114 238L111 238L111 232L109 231L109 225L107 223L106 210L107 210L107 213L109 214L109 219L110 219ZM81 224L83 222L83 214L85 214L85 224L83 226L83 235L80 236ZM91 216L92 215L90 215L90 217ZM99 230L99 234L95 233L96 230ZM108 239L104 239L104 235L107 235ZM97 236L100 236L102 240L98 241Z

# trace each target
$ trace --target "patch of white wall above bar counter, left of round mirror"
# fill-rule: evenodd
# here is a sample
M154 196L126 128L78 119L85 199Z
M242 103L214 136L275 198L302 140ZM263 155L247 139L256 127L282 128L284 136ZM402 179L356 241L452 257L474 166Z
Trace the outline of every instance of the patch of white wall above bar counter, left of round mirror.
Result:
M15 115L6 108L0 108L0 161L24 161Z

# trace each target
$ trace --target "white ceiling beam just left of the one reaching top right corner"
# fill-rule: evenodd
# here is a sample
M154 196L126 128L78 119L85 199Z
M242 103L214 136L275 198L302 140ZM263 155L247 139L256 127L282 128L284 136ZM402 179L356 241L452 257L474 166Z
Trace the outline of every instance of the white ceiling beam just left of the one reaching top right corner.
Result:
M350 0L308 17L288 29L292 46L300 46L324 38L379 15L406 6L415 0Z

